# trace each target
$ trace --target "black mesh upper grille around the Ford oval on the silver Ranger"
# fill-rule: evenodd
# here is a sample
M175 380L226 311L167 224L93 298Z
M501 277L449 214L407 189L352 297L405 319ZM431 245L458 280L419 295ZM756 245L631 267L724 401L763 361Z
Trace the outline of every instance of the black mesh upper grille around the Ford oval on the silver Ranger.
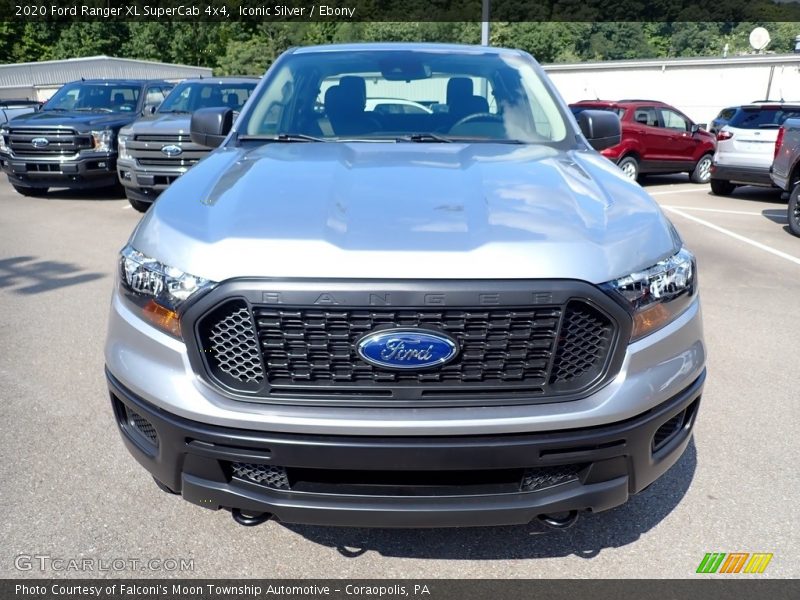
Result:
M441 331L460 353L449 364L422 370L363 361L358 340L393 327ZM574 395L603 376L616 337L605 312L577 299L491 309L251 306L234 299L203 315L197 332L208 373L235 392L431 405Z

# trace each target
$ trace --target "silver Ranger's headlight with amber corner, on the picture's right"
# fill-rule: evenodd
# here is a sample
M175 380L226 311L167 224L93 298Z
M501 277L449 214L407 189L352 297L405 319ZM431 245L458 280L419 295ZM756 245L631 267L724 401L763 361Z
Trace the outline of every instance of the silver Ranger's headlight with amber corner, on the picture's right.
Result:
M686 310L697 295L697 263L686 248L652 267L603 287L622 296L633 313L631 341L657 331Z

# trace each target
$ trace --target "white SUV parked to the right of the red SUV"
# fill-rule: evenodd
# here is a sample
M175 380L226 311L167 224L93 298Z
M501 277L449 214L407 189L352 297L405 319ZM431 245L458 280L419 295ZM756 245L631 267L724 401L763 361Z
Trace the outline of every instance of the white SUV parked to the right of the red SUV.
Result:
M717 151L711 166L711 191L728 196L739 185L772 187L770 167L778 129L800 116L800 104L748 104L737 109L717 132Z

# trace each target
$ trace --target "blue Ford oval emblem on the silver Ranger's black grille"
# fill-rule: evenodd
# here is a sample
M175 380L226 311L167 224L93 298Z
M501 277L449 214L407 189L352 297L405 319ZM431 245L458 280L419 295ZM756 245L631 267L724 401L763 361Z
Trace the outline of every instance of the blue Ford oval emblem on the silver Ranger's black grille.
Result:
M446 364L458 354L449 336L426 329L386 329L365 335L356 345L366 362L384 369L424 369Z

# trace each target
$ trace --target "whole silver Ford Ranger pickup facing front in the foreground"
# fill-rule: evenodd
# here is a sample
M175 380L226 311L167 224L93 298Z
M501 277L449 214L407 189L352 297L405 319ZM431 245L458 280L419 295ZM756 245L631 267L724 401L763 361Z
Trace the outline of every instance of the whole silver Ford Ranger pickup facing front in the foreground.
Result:
M520 51L368 44L288 51L232 115L194 114L219 148L119 259L111 401L162 489L244 524L558 527L678 460L695 259L591 148L615 114L576 121Z

